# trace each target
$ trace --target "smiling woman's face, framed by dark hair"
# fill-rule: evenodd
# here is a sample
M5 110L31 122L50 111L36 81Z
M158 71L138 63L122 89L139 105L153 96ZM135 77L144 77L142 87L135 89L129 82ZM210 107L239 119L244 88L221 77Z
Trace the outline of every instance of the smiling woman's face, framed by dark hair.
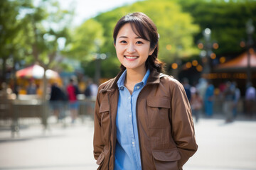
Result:
M140 38L132 30L130 23L124 24L117 34L114 45L117 58L124 67L137 72L145 72L145 62L154 49L150 49L150 42Z

